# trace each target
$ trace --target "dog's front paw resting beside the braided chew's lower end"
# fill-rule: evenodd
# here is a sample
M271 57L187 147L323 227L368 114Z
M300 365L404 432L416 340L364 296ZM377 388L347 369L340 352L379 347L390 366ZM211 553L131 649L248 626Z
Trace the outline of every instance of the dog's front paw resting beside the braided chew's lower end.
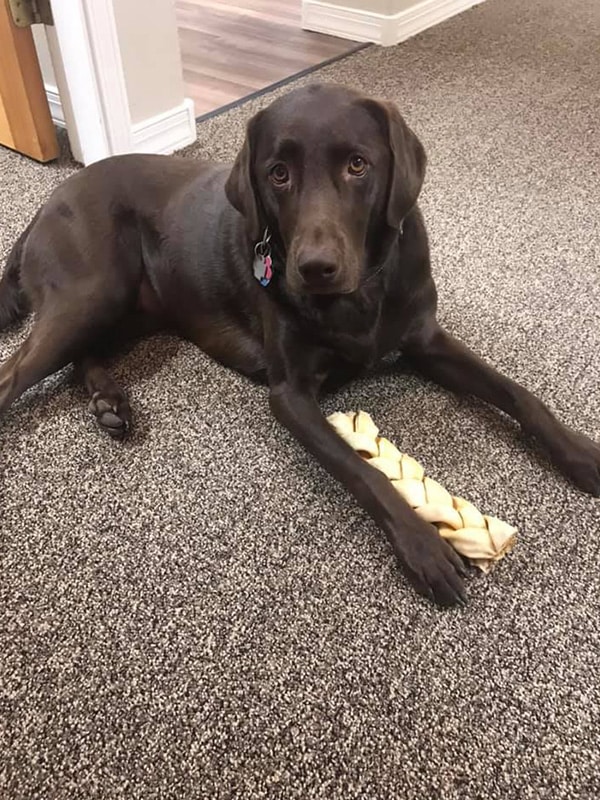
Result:
M408 580L440 606L466 603L465 565L433 525L424 522L411 531L400 556Z

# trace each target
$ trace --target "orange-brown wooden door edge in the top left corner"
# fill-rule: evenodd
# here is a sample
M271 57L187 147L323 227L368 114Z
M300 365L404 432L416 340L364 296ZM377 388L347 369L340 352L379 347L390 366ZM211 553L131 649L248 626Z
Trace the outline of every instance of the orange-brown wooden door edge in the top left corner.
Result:
M0 145L36 161L58 156L31 28L15 25L8 0L0 0Z

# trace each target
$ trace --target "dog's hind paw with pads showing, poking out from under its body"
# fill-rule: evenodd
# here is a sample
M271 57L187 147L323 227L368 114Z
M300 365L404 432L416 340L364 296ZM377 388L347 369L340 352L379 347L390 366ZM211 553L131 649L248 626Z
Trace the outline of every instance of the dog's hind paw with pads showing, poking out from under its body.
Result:
M123 389L96 356L84 356L76 369L89 392L88 408L99 427L113 439L124 439L131 430L131 408Z

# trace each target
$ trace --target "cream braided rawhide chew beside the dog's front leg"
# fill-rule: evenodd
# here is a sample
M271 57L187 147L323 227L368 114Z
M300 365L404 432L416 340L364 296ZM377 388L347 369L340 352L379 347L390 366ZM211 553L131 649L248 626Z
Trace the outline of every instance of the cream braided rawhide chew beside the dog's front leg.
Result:
M365 411L337 412L328 420L342 439L387 475L422 519L433 523L440 535L480 570L489 572L494 562L511 550L516 528L481 514L472 503L452 497L439 483L426 478L418 461L379 436L379 429Z

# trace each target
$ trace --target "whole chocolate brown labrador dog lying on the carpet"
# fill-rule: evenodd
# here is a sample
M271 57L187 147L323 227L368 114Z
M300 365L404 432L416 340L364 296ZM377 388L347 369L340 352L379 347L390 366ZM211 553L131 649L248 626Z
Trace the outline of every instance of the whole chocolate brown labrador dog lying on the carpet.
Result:
M0 282L0 327L35 311L0 367L0 410L74 362L100 427L121 437L129 404L103 359L133 335L174 330L266 380L273 414L379 524L413 586L463 601L462 561L338 437L319 391L401 351L510 414L595 495L600 448L437 323L416 205L424 172L393 105L333 85L256 114L233 167L128 155L81 170L38 212Z

